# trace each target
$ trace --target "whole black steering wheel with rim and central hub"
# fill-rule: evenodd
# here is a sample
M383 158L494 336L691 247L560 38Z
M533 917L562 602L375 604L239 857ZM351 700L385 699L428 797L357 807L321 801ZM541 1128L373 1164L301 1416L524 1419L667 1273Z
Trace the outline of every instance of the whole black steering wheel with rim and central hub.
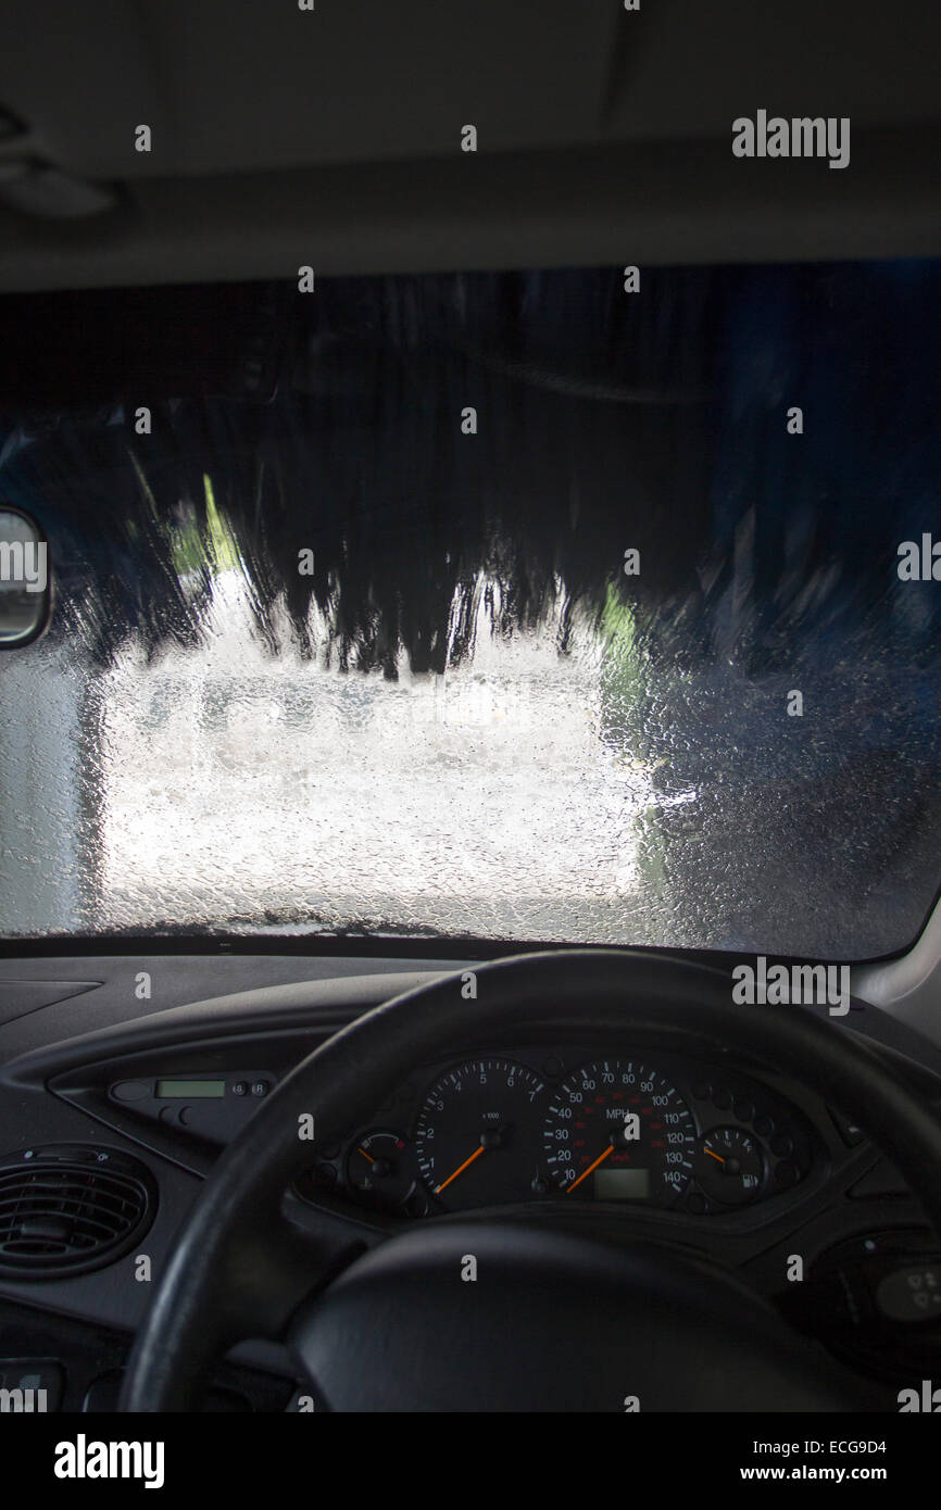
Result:
M941 1235L941 1119L843 1019L736 1006L730 974L656 954L524 954L474 975L476 997L449 975L343 1028L230 1143L157 1284L119 1409L198 1409L211 1365L248 1338L287 1341L314 1409L872 1409L853 1376L736 1274L631 1241L627 1213L616 1243L568 1213L551 1220L556 1202L415 1222L343 1253L316 1211L304 1206L305 1226L292 1219L285 1190L314 1149L363 1125L415 1063L456 1042L492 1049L588 1030L713 1059L736 1045L793 1074L865 1125ZM310 1117L314 1142L299 1137Z

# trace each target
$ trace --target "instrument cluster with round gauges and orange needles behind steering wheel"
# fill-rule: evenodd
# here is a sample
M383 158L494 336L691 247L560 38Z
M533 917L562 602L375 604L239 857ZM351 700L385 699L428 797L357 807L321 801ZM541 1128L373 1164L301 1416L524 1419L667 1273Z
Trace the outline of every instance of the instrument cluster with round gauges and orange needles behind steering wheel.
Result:
M725 1066L530 1048L409 1078L311 1176L415 1217L541 1199L708 1216L793 1188L814 1146L802 1111Z

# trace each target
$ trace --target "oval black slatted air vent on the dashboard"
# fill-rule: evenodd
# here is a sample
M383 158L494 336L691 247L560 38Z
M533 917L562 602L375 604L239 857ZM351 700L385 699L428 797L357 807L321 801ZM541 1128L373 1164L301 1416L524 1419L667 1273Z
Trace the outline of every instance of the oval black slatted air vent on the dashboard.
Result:
M0 1276L103 1268L143 1235L156 1205L150 1170L115 1149L59 1145L0 1158Z

